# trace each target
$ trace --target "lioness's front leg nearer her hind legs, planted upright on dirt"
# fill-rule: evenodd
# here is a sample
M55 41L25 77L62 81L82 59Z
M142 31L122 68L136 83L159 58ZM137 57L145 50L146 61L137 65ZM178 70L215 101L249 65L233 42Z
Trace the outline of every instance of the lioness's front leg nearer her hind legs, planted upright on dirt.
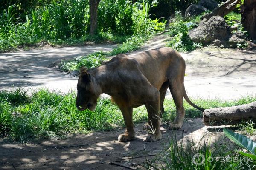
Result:
M148 131L147 141L155 142L162 138L160 131L160 94L156 91L148 98L145 104L148 111L148 123L143 125L143 130Z

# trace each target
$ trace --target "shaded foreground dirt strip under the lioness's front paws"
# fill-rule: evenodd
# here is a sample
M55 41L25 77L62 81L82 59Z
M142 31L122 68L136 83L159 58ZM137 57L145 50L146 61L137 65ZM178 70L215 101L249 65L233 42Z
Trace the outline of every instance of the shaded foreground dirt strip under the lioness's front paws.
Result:
M146 159L152 159L160 150L168 147L169 140L176 136L183 141L221 141L223 134L211 133L202 119L186 119L180 130L167 130L162 125L163 139L146 142L147 132L142 124L135 127L136 138L130 142L118 142L117 137L124 130L96 132L88 135L69 136L66 139L33 141L15 144L1 141L0 169L2 170L125 170L124 167L109 164L115 162L129 167L141 168ZM217 136L216 136L217 135ZM209 138L211 137L211 138ZM75 145L84 145L72 147ZM140 157L141 156L141 157Z

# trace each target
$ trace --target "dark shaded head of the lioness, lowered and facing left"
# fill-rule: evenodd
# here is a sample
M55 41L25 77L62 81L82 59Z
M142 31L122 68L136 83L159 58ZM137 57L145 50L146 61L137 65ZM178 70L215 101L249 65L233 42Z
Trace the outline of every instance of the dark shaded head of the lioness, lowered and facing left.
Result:
M80 76L77 83L76 107L80 111L89 109L94 111L99 94L96 93L94 78L86 71L86 68L80 69Z

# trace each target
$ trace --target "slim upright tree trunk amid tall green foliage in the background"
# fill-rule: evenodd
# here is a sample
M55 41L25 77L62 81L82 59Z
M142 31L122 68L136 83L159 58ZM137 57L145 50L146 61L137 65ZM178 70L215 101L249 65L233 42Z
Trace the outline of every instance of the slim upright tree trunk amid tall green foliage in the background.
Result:
M90 5L90 35L96 34L98 27L98 6L100 0L89 0Z

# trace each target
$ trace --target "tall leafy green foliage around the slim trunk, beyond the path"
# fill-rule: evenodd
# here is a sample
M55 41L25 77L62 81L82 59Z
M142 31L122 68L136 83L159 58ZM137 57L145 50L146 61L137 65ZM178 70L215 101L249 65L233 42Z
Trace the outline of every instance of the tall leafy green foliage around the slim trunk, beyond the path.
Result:
M12 5L0 12L0 51L15 50L41 41L53 45L77 45L87 40L101 42L105 38L123 35L127 38L133 34L162 31L164 22L151 20L148 9L149 3L144 1L132 4L130 0L101 0L98 35L88 36L88 0L53 0L24 13L17 12L20 11L19 4ZM112 36L106 36L110 34Z

